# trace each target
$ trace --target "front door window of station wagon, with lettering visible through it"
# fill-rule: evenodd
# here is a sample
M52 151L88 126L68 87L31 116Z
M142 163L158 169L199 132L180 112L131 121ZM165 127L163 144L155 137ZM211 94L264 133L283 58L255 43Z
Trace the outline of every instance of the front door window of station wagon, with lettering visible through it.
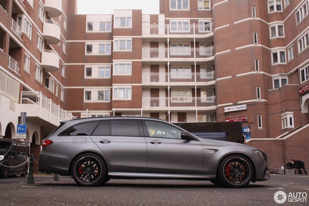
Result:
M162 122L145 121L145 123L150 137L181 139L182 131L175 127Z

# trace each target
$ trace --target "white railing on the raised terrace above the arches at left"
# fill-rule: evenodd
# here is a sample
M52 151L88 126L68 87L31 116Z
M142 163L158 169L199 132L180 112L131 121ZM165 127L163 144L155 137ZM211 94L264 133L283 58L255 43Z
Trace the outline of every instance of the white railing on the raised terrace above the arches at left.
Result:
M22 105L38 105L38 117L40 117L41 109L49 111L49 122L51 115L54 114L57 117L57 124L60 121L76 119L75 116L66 112L66 110L60 108L60 105L56 105L51 99L48 99L42 92L21 92L20 104Z

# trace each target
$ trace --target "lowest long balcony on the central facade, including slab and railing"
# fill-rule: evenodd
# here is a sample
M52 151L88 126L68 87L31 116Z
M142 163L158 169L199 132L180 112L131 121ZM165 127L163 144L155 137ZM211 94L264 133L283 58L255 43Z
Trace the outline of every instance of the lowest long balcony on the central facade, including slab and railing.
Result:
M216 109L214 97L143 97L143 110L195 110L195 105L202 110Z

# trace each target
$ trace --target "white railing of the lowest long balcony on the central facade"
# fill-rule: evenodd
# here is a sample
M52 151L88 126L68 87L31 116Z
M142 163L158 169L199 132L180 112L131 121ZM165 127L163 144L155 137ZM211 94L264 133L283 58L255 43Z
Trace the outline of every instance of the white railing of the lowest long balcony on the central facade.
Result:
M216 105L213 97L143 97L142 107L210 107Z

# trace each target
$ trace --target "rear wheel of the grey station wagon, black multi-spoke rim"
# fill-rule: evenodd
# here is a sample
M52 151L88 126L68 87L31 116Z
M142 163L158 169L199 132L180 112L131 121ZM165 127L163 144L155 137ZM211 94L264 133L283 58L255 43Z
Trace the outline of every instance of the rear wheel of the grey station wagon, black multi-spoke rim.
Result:
M87 153L74 159L71 174L77 184L84 187L95 187L104 181L107 173L106 168L102 157Z

